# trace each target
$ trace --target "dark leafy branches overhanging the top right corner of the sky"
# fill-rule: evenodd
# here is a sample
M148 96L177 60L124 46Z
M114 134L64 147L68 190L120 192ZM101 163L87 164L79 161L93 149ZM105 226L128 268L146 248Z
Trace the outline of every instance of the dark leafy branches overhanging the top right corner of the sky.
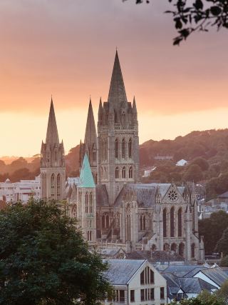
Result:
M126 1L126 0L123 0ZM228 29L228 1L227 0L168 0L172 2L174 9L165 11L172 14L178 36L173 44L180 42L195 31L208 31L209 26L217 26L217 29ZM135 0L136 4L143 2L149 4L149 0Z

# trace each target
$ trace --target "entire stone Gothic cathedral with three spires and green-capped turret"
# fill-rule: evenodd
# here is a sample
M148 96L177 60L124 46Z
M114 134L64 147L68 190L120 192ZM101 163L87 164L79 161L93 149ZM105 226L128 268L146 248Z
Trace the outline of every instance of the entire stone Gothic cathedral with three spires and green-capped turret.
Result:
M91 246L115 244L135 250L174 251L188 261L204 260L194 184L142 184L139 179L138 111L128 101L118 52L108 101L100 99L95 126L91 100L80 179L66 185L63 141L58 139L51 100L46 143L41 145L41 196L66 199L71 217Z

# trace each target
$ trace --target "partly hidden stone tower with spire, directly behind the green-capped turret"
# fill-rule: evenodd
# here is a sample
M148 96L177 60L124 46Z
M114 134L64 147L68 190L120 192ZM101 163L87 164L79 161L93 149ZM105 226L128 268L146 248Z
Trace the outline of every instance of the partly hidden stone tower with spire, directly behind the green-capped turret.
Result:
M88 156L90 168L95 184L98 183L98 144L97 131L93 116L93 107L90 99L88 106L88 116L86 122L86 134L84 143L80 143L79 167L81 169L85 154Z

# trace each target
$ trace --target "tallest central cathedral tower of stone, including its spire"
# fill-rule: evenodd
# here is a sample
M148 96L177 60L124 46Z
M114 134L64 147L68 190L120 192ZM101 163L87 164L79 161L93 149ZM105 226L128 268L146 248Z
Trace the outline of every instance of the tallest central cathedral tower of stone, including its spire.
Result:
M116 51L108 101L98 111L98 183L106 185L109 204L124 184L138 182L138 167L137 108L127 99Z

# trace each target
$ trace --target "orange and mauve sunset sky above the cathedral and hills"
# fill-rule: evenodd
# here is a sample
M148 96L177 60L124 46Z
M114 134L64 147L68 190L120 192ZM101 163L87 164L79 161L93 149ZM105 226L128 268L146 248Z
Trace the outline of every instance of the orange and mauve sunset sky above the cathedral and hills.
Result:
M167 0L0 1L0 156L31 156L46 138L53 95L66 153L107 101L115 48L140 143L228 127L228 31L172 46Z

